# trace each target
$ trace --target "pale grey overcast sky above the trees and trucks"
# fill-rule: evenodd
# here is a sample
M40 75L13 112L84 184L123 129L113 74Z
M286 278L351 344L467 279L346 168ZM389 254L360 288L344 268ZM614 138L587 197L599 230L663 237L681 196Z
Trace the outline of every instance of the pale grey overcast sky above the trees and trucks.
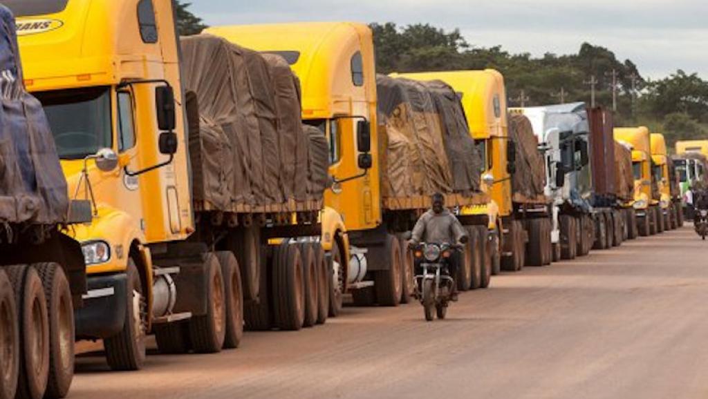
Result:
M430 23L472 45L576 53L582 42L632 59L644 76L708 79L708 0L190 0L209 25L292 21ZM248 4L246 4L248 3Z

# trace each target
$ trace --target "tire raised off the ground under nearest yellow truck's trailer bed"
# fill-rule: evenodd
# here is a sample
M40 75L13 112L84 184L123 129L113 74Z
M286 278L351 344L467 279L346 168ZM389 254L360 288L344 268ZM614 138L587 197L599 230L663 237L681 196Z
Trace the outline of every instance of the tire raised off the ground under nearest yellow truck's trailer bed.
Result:
M224 249L232 251L239 262L244 301L257 301L261 289L261 230L258 226L236 229L227 237Z

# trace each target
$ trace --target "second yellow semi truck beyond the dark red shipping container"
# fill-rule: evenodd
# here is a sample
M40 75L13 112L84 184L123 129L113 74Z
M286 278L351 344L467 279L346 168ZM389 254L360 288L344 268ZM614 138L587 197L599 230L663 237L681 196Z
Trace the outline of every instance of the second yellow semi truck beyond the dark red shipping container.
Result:
M678 227L678 209L675 208L673 195L671 193L672 179L669 173L671 162L666 150L666 139L661 133L652 133L649 137L651 141L651 161L652 174L656 181L659 199L659 209L661 210L661 223L659 230L673 230Z

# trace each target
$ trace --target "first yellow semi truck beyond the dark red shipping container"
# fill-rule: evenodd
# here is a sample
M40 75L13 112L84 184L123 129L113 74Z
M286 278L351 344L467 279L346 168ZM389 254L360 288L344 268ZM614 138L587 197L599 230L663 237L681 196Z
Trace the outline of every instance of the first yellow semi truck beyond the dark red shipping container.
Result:
M650 236L658 229L658 202L653 202L651 175L651 139L649 129L617 127L615 139L632 147L632 173L634 174L634 207L636 225L640 236Z

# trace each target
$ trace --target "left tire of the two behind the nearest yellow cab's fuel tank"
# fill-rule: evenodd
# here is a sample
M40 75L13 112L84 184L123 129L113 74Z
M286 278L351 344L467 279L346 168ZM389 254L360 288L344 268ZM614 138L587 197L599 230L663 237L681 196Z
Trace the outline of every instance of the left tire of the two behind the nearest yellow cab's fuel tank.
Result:
M207 313L189 320L189 337L197 353L217 353L224 347L226 337L227 304L224 275L214 253L204 255L207 275Z

